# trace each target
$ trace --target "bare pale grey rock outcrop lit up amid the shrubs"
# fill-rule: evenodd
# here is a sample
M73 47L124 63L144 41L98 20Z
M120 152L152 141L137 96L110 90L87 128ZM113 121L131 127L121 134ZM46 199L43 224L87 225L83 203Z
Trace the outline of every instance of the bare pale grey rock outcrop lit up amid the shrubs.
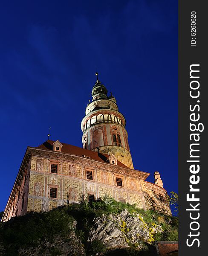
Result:
M108 248L129 247L136 244L142 248L142 242L153 241L155 227L148 227L142 216L131 215L127 209L120 214L102 215L93 221L88 241L100 240Z

